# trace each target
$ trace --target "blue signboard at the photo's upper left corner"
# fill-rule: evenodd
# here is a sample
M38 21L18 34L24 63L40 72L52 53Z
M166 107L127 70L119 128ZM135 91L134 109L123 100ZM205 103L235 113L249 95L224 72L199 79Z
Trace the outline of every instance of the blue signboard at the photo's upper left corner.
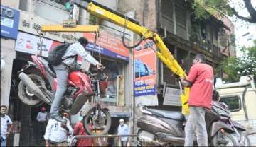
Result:
M1 36L17 39L19 11L1 5Z

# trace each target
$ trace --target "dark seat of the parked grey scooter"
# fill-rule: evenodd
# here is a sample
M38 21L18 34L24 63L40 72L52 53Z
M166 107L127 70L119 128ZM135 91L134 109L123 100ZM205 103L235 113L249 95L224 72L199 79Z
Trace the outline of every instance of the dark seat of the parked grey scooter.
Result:
M156 115L157 117L164 117L168 119L175 119L178 121L185 121L185 117L181 112L176 111L166 111L166 110L155 110L155 109L148 109L149 112Z

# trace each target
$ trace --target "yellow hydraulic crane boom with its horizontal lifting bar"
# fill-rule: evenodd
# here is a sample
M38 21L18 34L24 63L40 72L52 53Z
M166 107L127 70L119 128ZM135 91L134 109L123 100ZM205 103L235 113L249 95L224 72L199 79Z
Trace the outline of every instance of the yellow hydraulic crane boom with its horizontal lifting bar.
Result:
M85 8L88 12L90 12L92 15L97 16L98 18L102 18L104 20L108 20L114 24L117 24L119 26L122 26L124 28L127 28L128 30L132 30L134 33L137 33L138 35L142 36L144 39L151 39L156 44L156 47L159 50L156 50L156 56L159 57L159 59L166 64L166 66L176 75L178 75L180 78L186 77L185 71L181 68L181 66L178 64L178 61L174 58L174 56L171 54L169 49L164 45L163 40L161 40L161 37L154 33L153 31L143 27L142 25L139 25L135 20L132 20L131 18L127 18L126 16L122 15L121 13L118 13L116 11L113 11L110 8L107 8L105 6L102 6L100 4L97 4L92 1L88 0L75 0L75 4L80 6L81 8ZM57 26L57 25L56 25ZM82 27L80 27L82 28ZM97 30L98 28L94 28L93 26L90 26L92 31L89 29L82 28L81 30L76 27L55 27L54 25L42 25L41 31L47 32L47 31L63 31L65 32L93 32ZM184 88L184 93L181 94L181 102L182 102L182 113L188 114L188 95L189 95L190 88Z

